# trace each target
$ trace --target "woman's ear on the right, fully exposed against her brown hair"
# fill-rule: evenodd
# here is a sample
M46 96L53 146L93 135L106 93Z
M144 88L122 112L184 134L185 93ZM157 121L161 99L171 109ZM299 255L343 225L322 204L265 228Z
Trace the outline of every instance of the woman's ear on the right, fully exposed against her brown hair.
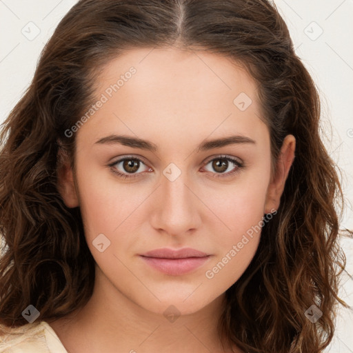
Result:
M285 180L294 161L295 142L293 135L287 135L283 140L279 159L276 162L276 171L268 185L264 213L272 213L279 208Z

